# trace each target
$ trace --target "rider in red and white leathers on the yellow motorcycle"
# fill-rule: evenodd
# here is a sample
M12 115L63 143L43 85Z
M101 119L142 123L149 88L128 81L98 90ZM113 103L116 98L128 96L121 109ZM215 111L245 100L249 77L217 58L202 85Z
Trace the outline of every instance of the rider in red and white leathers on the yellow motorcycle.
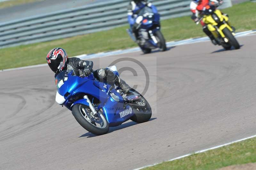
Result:
M206 2L208 1L208 2ZM190 11L193 13L191 16L191 19L193 19L195 22L199 21L199 11L204 8L205 4L209 4L209 0L193 0L190 3ZM200 9L200 10L198 10ZM212 35L211 31L207 28L207 26L204 24L203 20L200 20L201 25L203 26L204 33L211 39L212 43L214 45L217 44L214 36Z

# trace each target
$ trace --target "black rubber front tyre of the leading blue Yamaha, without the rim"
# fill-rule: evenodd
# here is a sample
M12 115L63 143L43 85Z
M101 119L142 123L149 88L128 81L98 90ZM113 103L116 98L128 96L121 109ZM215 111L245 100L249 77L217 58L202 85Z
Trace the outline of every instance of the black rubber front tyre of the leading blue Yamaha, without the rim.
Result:
M105 119L103 120L104 123L106 123L104 125L103 128L98 128L94 125L92 125L92 123L90 123L88 120L85 119L84 117L84 113L82 113L81 111L81 107L84 108L89 108L88 106L84 105L84 104L75 104L72 107L72 114L75 117L76 121L83 127L85 128L87 131L93 133L94 135L104 135L106 133L108 133L108 129L109 129L109 125L108 125L108 121L106 120L106 118L104 117L104 115L102 113L99 113L101 116L101 119Z

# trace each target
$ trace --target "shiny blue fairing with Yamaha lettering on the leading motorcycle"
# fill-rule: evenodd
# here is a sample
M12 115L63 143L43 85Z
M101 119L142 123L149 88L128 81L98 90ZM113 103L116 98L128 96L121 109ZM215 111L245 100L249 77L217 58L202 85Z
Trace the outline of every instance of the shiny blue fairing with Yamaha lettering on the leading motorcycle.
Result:
M92 98L92 103L95 100L100 101L98 109L102 108L109 126L120 125L129 120L134 114L133 110L130 109L131 107L128 104L124 104L123 97L115 89L111 93L118 96L119 102L116 102L110 96L110 93L107 94L108 89L111 87L109 84L95 80L93 74L89 77L81 78L73 76L72 73L73 71L66 70L60 72L56 77L58 93L65 98L65 102L62 105L65 105L69 110L72 110L75 104L89 106L87 100L83 98L84 95L87 95ZM116 71L114 73L118 74Z

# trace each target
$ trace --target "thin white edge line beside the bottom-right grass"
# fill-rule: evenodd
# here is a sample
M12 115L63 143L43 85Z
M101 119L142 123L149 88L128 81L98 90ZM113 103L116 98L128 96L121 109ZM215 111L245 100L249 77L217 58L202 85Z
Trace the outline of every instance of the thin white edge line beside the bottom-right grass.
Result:
M233 142L225 143L225 144L222 144L222 145L214 146L214 147L212 147L212 148L204 149L204 150L201 150L201 151L196 151L195 153L189 153L189 154L186 154L186 155L177 157L177 158L172 158L172 159L167 160L167 161L164 161L164 162L170 162L170 161L173 161L173 160L185 158L185 157L188 157L188 156L193 155L193 154L197 154L197 153L202 153L202 152L210 151L210 150L217 149L217 148L220 148L220 147L223 147L223 146L227 146L227 145L230 145L230 144L233 144L233 143L245 141L245 140L247 140L247 139L251 139L251 138L254 138L254 137L256 137L256 135L252 135L252 136L249 136L249 137L246 137L246 138L243 138L243 139L239 139L239 140L236 140L236 141L233 141ZM161 164L161 163L163 163L163 162L155 163L155 164L152 164L152 165L143 166L143 167L136 168L136 169L133 169L133 170L139 170L139 169L143 169L143 168L146 168L146 167L155 166L155 165L158 165L158 164Z

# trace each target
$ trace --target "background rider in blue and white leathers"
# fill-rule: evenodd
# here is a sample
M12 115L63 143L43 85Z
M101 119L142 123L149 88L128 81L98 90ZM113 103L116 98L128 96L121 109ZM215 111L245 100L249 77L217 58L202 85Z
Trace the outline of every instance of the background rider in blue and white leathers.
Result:
M138 17L138 13L140 12L140 10L146 6L151 8L154 14L158 13L156 6L154 6L152 3L148 2L147 0L133 0L129 3L127 7L128 22L130 24L132 32L136 37L136 40L138 40L138 37L139 37L139 32L137 29L139 23L136 23L136 18Z

